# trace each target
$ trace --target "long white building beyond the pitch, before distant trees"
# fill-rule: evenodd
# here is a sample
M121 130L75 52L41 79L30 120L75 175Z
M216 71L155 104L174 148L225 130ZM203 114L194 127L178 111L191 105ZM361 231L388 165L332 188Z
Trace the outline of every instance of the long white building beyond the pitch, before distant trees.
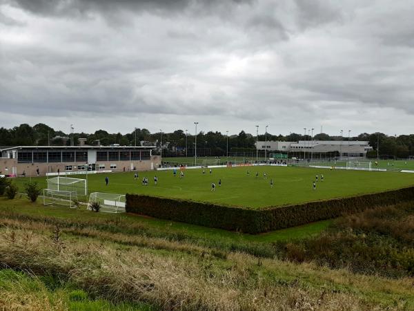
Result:
M299 158L365 158L368 151L373 150L368 141L360 140L299 140L299 142L263 142L256 143L259 151L278 151L293 153Z

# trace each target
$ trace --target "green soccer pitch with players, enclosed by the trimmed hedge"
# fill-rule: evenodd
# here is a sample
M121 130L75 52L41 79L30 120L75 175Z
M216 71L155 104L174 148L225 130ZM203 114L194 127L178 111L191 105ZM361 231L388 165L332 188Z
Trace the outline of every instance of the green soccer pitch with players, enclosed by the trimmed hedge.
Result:
M139 178L134 173L108 173L88 175L89 192L110 192L116 194L145 194L166 198L181 198L238 207L269 207L290 205L328 198L342 198L357 194L397 189L414 185L413 173L379 171L352 171L340 169L311 169L301 167L232 167L213 169L186 169L184 178L173 176L172 171L143 171ZM250 176L247 175L250 171ZM255 173L258 177L255 177ZM267 178L264 178L266 172ZM321 173L324 181L321 181ZM319 175L316 189L312 183ZM108 176L109 184L105 185ZM158 177L158 185L154 184ZM72 176L71 176L72 177ZM85 178L85 176L73 176ZM142 185L142 178L148 177L149 185ZM218 180L221 179L221 187ZM273 188L270 187L273 180ZM46 187L46 178L32 178ZM28 178L17 178L21 191ZM211 191L211 183L217 186Z

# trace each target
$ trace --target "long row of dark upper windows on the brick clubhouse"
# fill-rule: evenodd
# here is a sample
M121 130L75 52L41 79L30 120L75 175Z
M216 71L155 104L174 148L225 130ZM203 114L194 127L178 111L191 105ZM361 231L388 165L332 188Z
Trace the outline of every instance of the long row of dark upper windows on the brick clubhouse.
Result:
M97 161L150 160L150 151L97 151ZM19 151L17 162L87 162L88 151Z

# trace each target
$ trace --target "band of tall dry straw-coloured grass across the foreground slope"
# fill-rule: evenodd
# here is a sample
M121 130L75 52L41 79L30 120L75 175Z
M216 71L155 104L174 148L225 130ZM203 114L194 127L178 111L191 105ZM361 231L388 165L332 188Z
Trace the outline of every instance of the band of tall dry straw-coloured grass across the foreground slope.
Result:
M398 305L384 306L364 299L354 290L345 290L342 283L349 282L353 275L344 271L320 271L311 265L270 259L258 261L253 256L237 253L219 259L209 256L208 252L177 256L175 252L160 253L141 247L120 249L117 244L90 238L65 241L64 236L59 236L56 241L56 234L52 232L39 234L25 228L1 231L0 263L4 267L59 275L92 296L112 301L145 301L162 310L399 308ZM290 269L295 270L297 279L284 281L277 277L280 272L288 274ZM319 285L302 281L316 276L320 277ZM338 285L330 285L335 278ZM354 282L368 287L368 282L359 278L355 276ZM408 295L411 290L408 281L386 282L390 286L388 290L397 296Z

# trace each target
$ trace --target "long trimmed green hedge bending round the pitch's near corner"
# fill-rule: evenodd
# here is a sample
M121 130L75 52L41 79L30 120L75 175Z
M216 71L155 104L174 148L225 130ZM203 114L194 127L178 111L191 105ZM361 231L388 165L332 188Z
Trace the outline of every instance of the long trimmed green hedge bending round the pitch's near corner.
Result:
M414 200L414 187L265 209L127 194L126 211L194 225L258 234L408 200Z

